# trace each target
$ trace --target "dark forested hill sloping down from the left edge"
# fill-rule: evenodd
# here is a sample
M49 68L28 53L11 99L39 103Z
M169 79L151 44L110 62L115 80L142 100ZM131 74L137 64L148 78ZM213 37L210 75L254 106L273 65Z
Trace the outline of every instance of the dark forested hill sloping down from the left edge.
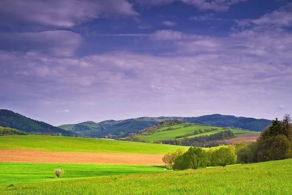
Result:
M29 134L56 134L73 136L74 132L37 121L10 110L0 110L0 126L24 131Z

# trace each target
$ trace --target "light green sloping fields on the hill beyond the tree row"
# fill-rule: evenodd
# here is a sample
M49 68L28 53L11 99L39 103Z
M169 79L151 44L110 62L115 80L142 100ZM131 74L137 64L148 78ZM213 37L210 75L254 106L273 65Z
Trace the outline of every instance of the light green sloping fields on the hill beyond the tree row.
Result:
M174 128L183 127L183 126L185 126L187 124L190 124L190 123L182 123L182 124L174 125L172 127L174 127ZM167 128L168 127L163 127L161 129L167 129ZM211 131L211 132L206 132L206 133L202 133L202 134L198 134L198 135L194 135L194 136L189 136L189 137L205 136L205 135L216 134L216 133L219 133L221 131L226 131L226 130L222 130L221 127L191 125L191 126L184 127L184 128L181 128L181 129L157 132L157 133L154 133L154 134L152 134L150 136L141 136L141 138L146 140L146 141L154 141L154 140L160 140L160 139L174 139L177 136L183 136L183 135L186 135L186 134L194 133L194 131L196 129L211 129L211 128L217 128L218 130ZM258 132L251 132L251 131L243 131L243 130L239 130L239 129L231 129L231 131L235 134L235 136L237 136L239 134L258 133Z

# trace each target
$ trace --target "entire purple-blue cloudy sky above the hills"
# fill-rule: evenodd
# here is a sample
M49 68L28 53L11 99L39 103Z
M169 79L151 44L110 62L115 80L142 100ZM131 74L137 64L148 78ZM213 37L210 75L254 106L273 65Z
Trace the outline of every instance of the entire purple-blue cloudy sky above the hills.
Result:
M0 0L0 109L53 125L292 114L290 0Z

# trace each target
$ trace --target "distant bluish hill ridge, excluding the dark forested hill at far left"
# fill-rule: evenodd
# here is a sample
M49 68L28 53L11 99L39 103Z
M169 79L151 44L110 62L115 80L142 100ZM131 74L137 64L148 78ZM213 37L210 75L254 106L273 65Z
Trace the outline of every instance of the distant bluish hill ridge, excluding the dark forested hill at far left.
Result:
M126 137L129 133L138 133L143 129L151 127L157 122L169 119L184 120L191 123L200 123L220 127L235 127L257 132L261 132L265 127L272 124L272 120L268 119L214 114L200 117L139 117L126 120L106 120L99 123L87 121L78 124L61 125L59 127L80 133L84 136L110 136L112 138L116 138Z

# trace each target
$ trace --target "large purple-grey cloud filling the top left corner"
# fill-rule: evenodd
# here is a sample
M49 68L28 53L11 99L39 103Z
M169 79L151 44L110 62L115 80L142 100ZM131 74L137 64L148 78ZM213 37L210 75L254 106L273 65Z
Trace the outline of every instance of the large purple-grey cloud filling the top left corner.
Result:
M102 17L138 15L127 0L4 0L0 13L2 24L23 21L65 28Z

